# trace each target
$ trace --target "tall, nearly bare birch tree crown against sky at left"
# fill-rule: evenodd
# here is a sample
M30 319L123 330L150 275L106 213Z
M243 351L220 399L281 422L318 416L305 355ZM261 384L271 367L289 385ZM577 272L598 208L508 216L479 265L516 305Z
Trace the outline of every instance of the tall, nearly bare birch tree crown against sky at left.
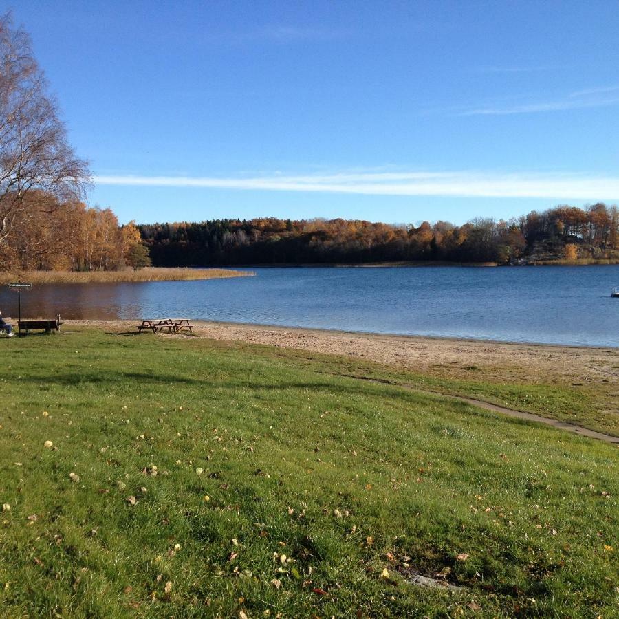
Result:
M87 162L67 142L28 34L13 27L10 14L1 16L0 249L10 244L20 215L28 220L41 208L75 199L88 182Z

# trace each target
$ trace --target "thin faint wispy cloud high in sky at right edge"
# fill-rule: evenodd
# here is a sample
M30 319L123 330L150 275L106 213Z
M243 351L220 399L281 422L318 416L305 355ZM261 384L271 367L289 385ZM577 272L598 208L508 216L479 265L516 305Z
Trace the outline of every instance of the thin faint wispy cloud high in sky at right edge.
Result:
M459 111L457 116L505 116L508 114L526 114L567 109L585 109L590 107L607 107L619 105L619 87L605 86L587 90L574 91L563 98L531 101L516 105L487 105Z

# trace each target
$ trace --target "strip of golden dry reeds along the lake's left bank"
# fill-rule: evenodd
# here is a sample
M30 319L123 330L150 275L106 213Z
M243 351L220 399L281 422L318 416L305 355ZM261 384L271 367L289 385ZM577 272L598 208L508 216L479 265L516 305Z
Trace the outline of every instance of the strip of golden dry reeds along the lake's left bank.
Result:
M0 272L0 284L12 281L46 283L113 283L120 281L180 281L253 275L231 269L146 268L139 271L22 271Z

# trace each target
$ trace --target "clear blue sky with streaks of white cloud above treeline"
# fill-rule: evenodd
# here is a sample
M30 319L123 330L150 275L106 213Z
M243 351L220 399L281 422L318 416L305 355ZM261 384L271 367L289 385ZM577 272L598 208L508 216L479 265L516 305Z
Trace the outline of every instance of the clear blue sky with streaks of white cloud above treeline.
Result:
M617 1L0 6L122 222L619 201Z

